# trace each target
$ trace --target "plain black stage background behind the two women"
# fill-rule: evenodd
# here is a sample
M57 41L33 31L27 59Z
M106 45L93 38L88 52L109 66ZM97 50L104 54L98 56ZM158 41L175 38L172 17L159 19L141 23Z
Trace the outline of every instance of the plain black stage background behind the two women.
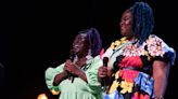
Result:
M44 83L44 71L68 58L77 31L96 27L103 46L120 38L118 23L123 11L136 0L1 1L0 99L36 99L52 96ZM145 1L145 0L144 0ZM155 16L154 33L177 52L176 0L147 0ZM174 99L178 82L177 59L170 69L165 98Z

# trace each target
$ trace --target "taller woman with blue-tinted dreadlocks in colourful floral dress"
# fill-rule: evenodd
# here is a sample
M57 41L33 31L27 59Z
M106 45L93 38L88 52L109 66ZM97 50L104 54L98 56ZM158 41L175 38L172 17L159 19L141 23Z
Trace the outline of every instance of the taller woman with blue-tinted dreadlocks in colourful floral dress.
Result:
M122 16L120 33L102 57L99 77L110 81L104 99L163 99L175 51L161 38L151 34L153 12L145 2L136 2Z

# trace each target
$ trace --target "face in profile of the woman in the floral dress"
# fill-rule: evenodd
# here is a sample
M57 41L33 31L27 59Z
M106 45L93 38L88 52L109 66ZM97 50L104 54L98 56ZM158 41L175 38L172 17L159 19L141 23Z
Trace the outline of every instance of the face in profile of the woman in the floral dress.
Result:
M132 15L130 11L124 12L119 26L122 36L132 37Z

